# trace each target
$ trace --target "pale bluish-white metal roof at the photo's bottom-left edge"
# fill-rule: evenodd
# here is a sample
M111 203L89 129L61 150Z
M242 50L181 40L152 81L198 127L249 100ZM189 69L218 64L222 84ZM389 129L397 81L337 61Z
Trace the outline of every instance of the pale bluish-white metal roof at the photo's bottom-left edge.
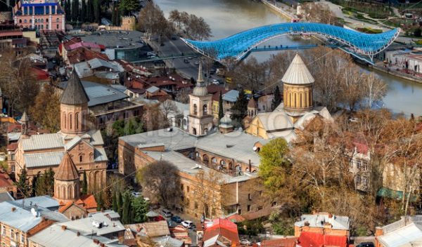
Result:
M15 208L12 211L12 208ZM27 232L41 222L41 217L34 217L30 211L4 201L0 203L0 222Z

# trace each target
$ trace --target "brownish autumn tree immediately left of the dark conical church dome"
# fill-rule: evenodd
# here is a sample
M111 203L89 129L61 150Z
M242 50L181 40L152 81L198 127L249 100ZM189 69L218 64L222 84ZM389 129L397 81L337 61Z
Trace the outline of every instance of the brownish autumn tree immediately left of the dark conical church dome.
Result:
M30 107L32 120L42 128L55 133L60 129L60 100L50 84L44 85Z

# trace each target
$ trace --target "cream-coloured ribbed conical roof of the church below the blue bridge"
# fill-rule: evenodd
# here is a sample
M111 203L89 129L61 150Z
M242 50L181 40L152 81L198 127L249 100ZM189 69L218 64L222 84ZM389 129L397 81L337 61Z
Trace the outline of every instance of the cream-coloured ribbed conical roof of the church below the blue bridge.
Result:
M281 81L285 84L312 84L315 80L300 55L296 54Z

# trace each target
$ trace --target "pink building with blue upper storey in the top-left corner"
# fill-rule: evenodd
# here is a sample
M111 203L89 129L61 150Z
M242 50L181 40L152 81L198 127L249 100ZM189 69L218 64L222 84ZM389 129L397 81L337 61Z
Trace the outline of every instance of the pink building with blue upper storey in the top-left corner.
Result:
M19 27L65 31L65 11L53 0L21 0L13 8L13 20Z

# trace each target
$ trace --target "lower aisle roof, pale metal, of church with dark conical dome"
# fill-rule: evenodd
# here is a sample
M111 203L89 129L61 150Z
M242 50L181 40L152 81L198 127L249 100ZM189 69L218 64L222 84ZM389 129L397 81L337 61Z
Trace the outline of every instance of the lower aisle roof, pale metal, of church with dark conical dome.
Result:
M27 168L42 166L58 166L63 159L65 152L45 152L36 154L23 154Z

